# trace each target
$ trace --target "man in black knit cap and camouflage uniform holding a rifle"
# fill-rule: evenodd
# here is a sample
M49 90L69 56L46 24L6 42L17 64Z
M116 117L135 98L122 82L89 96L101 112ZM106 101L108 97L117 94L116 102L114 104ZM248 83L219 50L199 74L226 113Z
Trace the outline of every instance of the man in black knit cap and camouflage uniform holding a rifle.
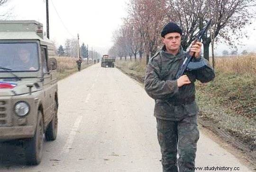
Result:
M161 32L164 46L147 65L146 93L155 99L154 116L157 123L157 138L162 153L163 172L192 172L195 166L198 106L195 102L195 80L209 82L215 77L214 70L207 66L192 70L175 79L185 52L181 46L182 30L175 23L168 23ZM201 43L195 43L192 61L201 57ZM177 161L177 154L179 159Z

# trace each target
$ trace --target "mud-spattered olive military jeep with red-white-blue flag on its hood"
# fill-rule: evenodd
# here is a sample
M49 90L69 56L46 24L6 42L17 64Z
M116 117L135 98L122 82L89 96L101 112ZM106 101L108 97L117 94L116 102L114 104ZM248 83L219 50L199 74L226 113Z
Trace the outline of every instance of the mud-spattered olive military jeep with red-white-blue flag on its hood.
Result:
M44 139L57 135L54 44L37 21L0 21L0 141L22 140L28 164L39 164Z

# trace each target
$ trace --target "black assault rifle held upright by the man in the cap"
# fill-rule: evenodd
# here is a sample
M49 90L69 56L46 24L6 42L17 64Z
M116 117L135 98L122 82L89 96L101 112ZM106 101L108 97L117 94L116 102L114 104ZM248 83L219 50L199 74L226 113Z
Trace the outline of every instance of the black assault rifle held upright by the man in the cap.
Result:
M211 19L207 22L207 25L199 32L196 39L194 40L194 45L198 40L200 41L202 36L207 32L209 26L210 26ZM181 77L185 71L195 70L195 69L201 69L204 66L206 66L206 62L204 60L192 62L192 58L194 57L195 53L193 52L192 55L190 54L190 51L188 51L185 55L185 60L183 61L182 65L180 66L180 69L178 70L178 73L176 74L175 79L178 79Z

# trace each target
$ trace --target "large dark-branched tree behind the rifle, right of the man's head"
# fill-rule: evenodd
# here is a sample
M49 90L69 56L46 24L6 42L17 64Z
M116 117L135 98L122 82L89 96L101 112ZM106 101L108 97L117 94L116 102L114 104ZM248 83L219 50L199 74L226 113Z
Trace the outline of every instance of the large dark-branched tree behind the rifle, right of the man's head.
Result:
M250 17L255 15L250 10L255 5L256 0L169 0L167 7L171 19L183 29L184 49L192 43L199 29L202 29L211 17L211 34L206 33L202 37L204 57L209 60L210 36L217 39L217 42L223 38L229 45L235 45L232 36L240 38L245 35L242 28L249 24Z

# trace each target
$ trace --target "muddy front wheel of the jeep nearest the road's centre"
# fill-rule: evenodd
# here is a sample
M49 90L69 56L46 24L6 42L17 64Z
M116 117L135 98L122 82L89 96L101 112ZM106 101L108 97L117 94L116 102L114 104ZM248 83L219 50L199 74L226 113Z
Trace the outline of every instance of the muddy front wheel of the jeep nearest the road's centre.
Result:
M44 122L42 112L38 111L35 135L33 138L29 138L25 141L25 156L27 164L37 165L41 162L43 156L43 142Z

